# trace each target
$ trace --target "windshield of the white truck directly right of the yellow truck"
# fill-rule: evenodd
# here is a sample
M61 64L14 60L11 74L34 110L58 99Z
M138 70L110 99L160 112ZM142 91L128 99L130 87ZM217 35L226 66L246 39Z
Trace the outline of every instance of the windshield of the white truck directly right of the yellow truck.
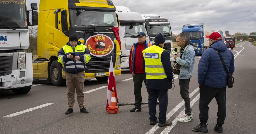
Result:
M145 25L143 23L120 23L120 26L125 26L124 37L137 37L139 32L146 32Z

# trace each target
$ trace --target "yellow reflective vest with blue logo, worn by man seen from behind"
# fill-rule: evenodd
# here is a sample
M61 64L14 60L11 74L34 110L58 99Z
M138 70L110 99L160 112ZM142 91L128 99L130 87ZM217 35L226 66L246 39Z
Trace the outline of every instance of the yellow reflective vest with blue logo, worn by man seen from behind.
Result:
M152 45L143 50L145 60L145 71L147 79L164 79L167 78L163 63L161 62L161 54L164 51L159 46Z

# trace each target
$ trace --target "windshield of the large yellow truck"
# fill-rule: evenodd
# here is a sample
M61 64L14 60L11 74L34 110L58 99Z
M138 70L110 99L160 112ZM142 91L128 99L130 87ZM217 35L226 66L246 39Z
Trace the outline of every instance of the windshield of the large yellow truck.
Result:
M116 12L86 11L70 9L71 26L106 26L117 27Z

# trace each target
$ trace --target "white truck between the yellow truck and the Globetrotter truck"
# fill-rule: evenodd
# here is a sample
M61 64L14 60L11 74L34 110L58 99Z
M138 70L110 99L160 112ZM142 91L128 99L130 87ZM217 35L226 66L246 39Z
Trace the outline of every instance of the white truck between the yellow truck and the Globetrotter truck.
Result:
M127 7L115 7L120 26L125 26L125 35L121 39L121 69L129 69L129 55L133 44L138 42L138 33L145 32L147 35L145 20L140 13L131 12ZM148 35L146 41L149 42Z

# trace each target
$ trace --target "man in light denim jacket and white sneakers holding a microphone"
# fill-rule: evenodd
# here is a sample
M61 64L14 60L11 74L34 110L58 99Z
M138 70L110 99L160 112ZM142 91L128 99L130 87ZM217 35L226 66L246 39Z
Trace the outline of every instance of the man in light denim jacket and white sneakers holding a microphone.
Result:
M180 95L185 102L185 114L177 119L178 122L191 122L192 109L190 107L189 98L189 82L190 78L194 75L194 64L195 64L195 51L193 48L193 43L186 38L184 34L179 34L177 36L177 45L182 47L181 58L178 55L174 55L175 61L180 64L180 74L178 76L180 85Z

